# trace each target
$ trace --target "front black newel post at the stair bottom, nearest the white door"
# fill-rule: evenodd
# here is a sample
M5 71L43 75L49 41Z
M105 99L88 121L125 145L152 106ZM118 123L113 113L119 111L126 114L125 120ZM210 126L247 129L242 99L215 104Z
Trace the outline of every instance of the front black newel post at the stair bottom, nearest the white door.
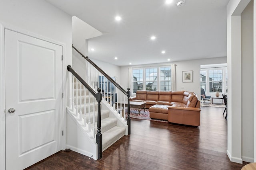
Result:
M102 158L102 134L101 134L101 114L100 114L100 102L102 101L101 89L97 89L96 100L98 101L98 122L97 122L97 135L96 143L98 145L98 159Z

